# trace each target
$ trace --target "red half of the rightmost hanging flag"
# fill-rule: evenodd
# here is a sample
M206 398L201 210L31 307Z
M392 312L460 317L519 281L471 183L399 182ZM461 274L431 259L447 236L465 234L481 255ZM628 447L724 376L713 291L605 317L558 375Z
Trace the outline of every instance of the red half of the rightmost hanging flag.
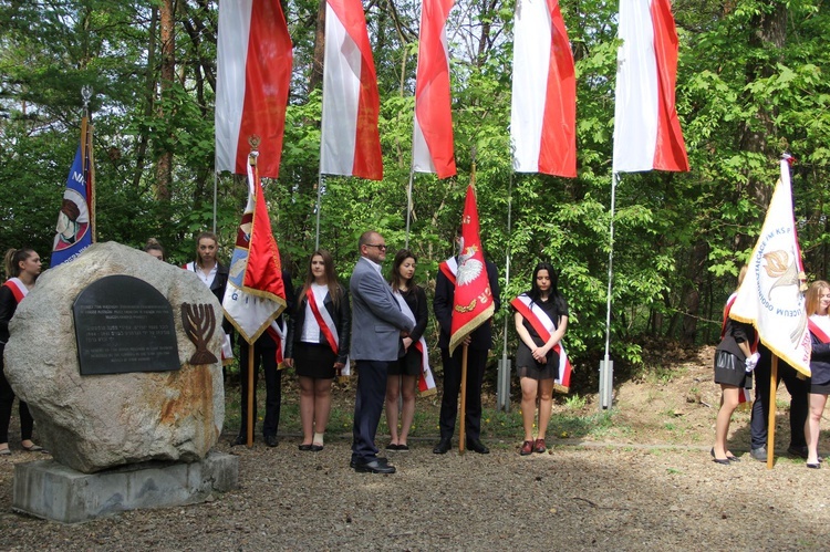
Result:
M658 121L657 145L654 149L654 168L658 170L688 170L686 144L675 105L677 82L677 32L670 0L652 0L654 55L657 62Z

